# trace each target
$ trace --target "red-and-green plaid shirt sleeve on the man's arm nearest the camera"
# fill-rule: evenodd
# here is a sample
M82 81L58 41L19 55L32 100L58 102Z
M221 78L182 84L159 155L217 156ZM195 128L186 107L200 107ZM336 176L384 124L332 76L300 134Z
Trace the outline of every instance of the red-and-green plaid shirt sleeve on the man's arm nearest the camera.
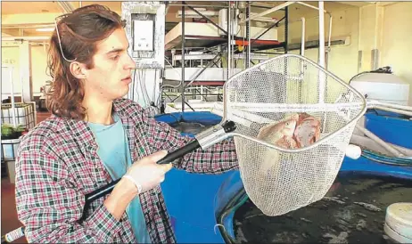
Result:
M29 135L29 134L28 134ZM57 159L44 135L30 134L21 142L16 161L16 205L29 242L109 243L121 224L103 204L79 222L85 204L75 179Z

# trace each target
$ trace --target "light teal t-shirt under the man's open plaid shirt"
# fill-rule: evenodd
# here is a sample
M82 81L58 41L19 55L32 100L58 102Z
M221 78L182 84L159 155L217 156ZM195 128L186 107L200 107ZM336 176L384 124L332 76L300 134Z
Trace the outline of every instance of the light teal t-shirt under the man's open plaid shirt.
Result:
M111 175L112 180L117 180L125 175L128 167L132 165L128 138L125 134L121 119L113 114L114 124L109 126L88 123L95 134L99 149L97 154L103 160L104 167ZM126 209L128 218L139 243L151 243L149 232L144 222L144 215L140 199L133 199Z

